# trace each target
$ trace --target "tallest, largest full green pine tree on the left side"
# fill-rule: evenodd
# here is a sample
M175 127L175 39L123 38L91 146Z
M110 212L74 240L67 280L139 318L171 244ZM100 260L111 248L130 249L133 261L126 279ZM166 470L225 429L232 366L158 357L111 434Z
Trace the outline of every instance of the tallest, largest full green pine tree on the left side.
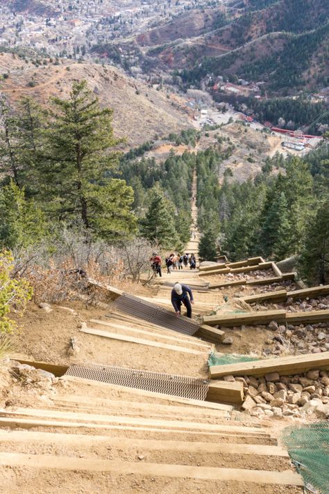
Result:
M47 160L39 169L48 213L82 221L95 237L125 238L136 226L133 189L107 177L119 158L111 150L120 142L113 136L112 110L100 108L86 81L74 82L69 99L53 98L49 120Z

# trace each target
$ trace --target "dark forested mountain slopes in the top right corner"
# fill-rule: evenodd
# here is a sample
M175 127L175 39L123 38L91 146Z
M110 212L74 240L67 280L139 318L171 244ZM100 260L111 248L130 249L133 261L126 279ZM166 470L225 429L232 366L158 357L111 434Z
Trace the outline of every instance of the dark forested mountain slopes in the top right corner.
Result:
M328 19L323 0L237 0L190 10L138 35L121 53L133 51L144 72L178 70L194 85L211 73L264 81L279 94L316 89L329 85ZM96 50L110 54L112 47Z

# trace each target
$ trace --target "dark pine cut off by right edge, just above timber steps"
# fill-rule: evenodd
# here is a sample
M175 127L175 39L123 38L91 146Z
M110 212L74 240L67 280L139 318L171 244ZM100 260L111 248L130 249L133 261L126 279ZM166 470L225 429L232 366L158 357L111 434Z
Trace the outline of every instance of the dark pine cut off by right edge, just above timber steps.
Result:
M323 285L329 282L329 200L321 204L310 223L299 266L308 282Z

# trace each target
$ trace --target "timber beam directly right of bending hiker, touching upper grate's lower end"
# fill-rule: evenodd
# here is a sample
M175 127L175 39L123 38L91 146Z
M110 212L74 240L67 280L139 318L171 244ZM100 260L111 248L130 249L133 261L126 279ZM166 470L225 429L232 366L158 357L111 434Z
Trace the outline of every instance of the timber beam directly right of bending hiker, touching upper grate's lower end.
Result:
M262 310L260 312L243 312L241 314L217 314L204 316L203 323L210 326L241 326L242 324L267 324L271 321L285 321L285 310Z

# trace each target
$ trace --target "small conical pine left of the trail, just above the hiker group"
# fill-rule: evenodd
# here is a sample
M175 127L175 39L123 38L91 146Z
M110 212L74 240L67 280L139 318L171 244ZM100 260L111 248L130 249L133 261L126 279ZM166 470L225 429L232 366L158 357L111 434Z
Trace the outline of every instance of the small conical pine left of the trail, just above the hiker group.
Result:
M140 230L146 239L158 243L162 248L174 249L178 244L174 207L158 184L149 192L149 207L140 221Z

